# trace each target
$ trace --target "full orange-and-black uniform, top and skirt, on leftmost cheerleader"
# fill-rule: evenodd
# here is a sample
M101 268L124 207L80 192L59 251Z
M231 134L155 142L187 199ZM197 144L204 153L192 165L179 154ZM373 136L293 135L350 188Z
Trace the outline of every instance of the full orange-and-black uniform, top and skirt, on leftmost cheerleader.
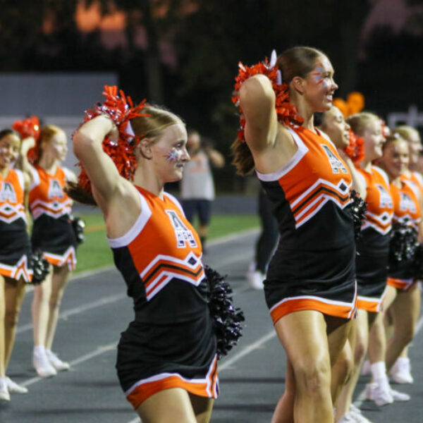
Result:
M30 282L30 257L23 173L10 169L5 179L0 175L0 274Z

